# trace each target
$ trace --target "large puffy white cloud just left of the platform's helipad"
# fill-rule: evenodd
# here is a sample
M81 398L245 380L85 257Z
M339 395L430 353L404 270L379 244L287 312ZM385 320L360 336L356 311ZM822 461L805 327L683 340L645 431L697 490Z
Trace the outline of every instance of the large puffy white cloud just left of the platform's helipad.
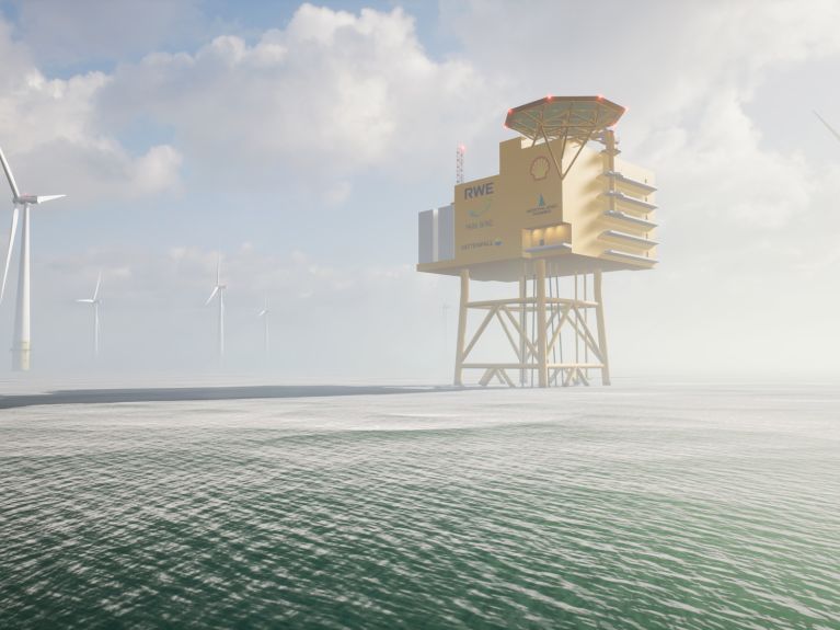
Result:
M342 199L347 177L428 163L435 137L474 133L498 108L463 61L435 61L400 9L358 14L301 5L249 44L219 36L193 54L120 66L103 90L115 129L151 116L174 129L185 163L226 185L296 183ZM451 141L454 144L454 140Z

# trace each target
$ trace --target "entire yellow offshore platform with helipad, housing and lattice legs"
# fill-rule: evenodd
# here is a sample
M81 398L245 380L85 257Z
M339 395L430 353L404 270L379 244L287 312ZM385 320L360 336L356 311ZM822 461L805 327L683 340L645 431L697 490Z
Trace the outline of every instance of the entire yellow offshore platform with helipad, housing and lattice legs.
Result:
M461 277L456 385L472 369L481 385L588 385L592 373L609 385L602 273L657 262L654 177L619 158L612 127L623 113L602 96L509 110L505 126L520 136L499 144L498 174L459 183L454 203L421 213L417 271ZM471 301L471 279L516 282L519 291ZM491 327L510 352L471 360Z

